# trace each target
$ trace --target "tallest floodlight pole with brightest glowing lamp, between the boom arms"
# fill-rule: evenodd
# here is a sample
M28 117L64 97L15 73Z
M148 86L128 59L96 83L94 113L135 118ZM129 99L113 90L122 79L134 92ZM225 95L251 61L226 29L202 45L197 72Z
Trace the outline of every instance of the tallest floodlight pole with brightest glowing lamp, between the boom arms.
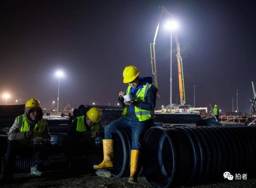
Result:
M172 31L178 28L178 22L170 20L165 24L165 27L171 30L171 58L170 58L170 109L172 109Z

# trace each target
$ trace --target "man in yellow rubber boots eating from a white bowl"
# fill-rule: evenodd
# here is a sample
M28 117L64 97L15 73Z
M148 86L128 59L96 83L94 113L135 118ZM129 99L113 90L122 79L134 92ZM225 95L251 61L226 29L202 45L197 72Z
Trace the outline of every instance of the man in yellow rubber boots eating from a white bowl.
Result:
M156 105L156 93L158 89L152 84L152 77L139 77L140 71L134 66L124 68L124 83L128 83L126 92L120 91L118 101L124 107L121 118L113 121L105 127L105 139L103 140L104 160L94 165L95 169L113 167L113 135L116 129L131 129L132 151L131 168L128 182L137 182L139 159L143 145L143 137L152 126L154 108ZM132 95L131 101L124 101L124 95Z

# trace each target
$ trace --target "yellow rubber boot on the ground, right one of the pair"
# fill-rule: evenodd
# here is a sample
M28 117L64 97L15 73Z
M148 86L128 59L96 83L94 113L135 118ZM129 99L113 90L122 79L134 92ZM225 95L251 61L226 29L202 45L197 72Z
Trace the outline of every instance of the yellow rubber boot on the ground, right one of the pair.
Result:
M137 172L139 167L140 160L140 150L132 150L131 151L131 168L130 168L130 178L128 180L129 183L137 182Z

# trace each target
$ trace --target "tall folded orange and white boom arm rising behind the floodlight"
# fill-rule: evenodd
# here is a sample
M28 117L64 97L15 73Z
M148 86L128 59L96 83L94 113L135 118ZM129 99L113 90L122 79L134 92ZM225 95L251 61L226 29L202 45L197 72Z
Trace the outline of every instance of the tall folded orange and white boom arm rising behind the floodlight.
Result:
M166 8L164 6L161 7L161 13L160 13L160 17L159 17L159 21L156 27L156 33L155 33L155 37L153 40L153 43L150 43L150 57L151 57L151 68L152 68L152 74L154 75L155 78L155 85L156 87L158 87L158 83L157 83L157 74L156 74L156 53L155 53L155 44L156 44L156 36L158 33L158 29L159 29L159 25L160 25L160 21L162 18L162 14L166 14L169 18L174 19L174 15L167 11ZM179 77L179 90L180 90L180 106L186 104L186 98L185 98L185 87L184 87L184 77L183 77L183 65L182 65L182 58L180 56L180 44L178 41L178 36L175 35L174 37L175 42L176 42L176 48L177 48L177 60L178 60L178 77ZM157 96L160 97L159 93L157 93ZM178 104L177 104L178 105Z

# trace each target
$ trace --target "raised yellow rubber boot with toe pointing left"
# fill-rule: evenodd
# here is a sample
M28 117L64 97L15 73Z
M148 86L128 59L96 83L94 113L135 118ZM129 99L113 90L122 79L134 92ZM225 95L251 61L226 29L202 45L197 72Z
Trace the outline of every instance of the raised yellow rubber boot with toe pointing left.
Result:
M94 169L104 169L113 167L114 160L114 140L102 140L103 143L103 161L100 164L93 165Z

